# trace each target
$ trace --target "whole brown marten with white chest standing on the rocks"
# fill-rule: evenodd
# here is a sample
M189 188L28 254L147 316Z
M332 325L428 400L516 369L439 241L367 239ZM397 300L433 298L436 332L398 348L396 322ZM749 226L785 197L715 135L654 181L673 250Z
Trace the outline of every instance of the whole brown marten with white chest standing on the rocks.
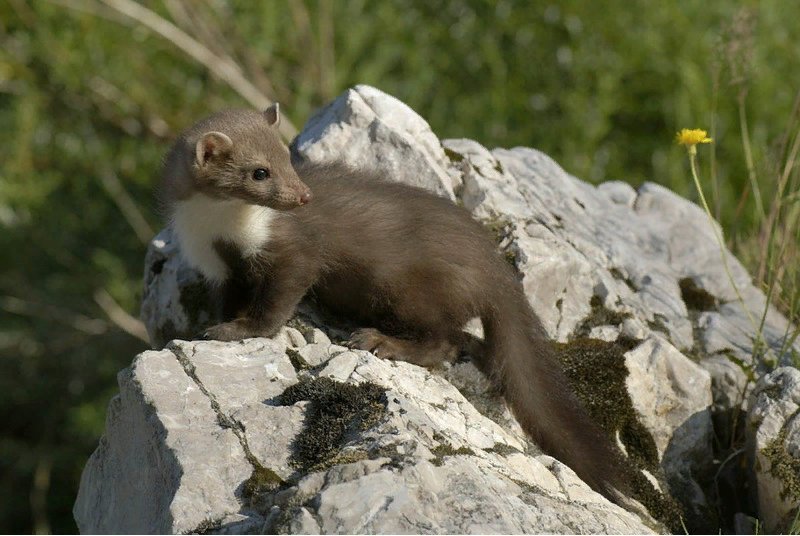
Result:
M168 153L161 199L188 263L218 288L205 338L270 337L306 295L363 326L351 344L433 366L470 346L522 428L614 502L621 458L561 370L515 270L469 212L370 169L293 166L279 108L229 110ZM484 338L464 325L480 318Z

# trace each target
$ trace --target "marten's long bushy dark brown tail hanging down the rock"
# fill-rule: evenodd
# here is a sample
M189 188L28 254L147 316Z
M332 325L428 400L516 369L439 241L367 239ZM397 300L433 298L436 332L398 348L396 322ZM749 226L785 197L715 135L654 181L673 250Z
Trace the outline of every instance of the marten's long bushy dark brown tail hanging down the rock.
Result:
M628 494L621 454L573 394L521 289L502 294L482 315L486 372L537 445L619 503Z

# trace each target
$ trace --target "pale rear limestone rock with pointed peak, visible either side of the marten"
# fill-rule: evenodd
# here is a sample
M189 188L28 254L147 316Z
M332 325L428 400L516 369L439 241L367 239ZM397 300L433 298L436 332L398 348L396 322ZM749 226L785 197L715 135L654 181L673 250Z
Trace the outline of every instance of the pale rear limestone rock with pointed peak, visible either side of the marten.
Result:
M376 137L378 131L390 134ZM636 191L619 181L594 187L534 149L489 151L465 139L440 144L413 110L368 86L356 86L323 108L294 147L303 159L343 159L451 199L457 193L466 208L500 232L501 247L522 273L534 309L559 341L583 326L592 312L590 301L598 296L621 322L637 321L637 329L627 333L644 338L660 331L681 351L731 353L752 361L753 327L726 276L714 234L718 226L666 188L646 183ZM196 276L177 273L188 270L179 262L161 262L174 259L174 247L169 233L162 233L146 265L142 315L156 345L165 342L161 332L193 334L187 333L187 317L208 317L196 307L200 293L190 286ZM763 294L741 264L726 256L747 310L760 318ZM190 287L180 296L189 307L170 299L175 291L169 281L176 276L182 287ZM680 288L684 279L709 292L719 307L690 311ZM769 308L764 333L771 348L781 347L786 327ZM800 352L800 342L794 350ZM790 357L774 359L786 363Z

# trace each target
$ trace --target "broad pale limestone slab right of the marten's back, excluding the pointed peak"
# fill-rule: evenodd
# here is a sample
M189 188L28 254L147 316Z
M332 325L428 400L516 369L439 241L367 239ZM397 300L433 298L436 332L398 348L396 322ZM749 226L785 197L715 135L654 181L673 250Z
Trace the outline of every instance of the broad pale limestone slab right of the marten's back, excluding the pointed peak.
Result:
M606 308L647 326L641 335L661 331L682 351L732 351L752 361L754 329L727 278L718 225L697 205L652 183L638 191L618 181L595 188L534 149L442 143L451 159L461 159L464 206L477 217L509 224L503 246L513 253L532 305L555 339L573 335L590 312L589 299L598 295ZM763 294L729 252L726 257L747 309L760 318ZM696 311L695 318L680 288L687 278L717 298L718 310ZM786 327L770 307L764 333L771 348L781 347ZM800 351L800 343L794 349Z

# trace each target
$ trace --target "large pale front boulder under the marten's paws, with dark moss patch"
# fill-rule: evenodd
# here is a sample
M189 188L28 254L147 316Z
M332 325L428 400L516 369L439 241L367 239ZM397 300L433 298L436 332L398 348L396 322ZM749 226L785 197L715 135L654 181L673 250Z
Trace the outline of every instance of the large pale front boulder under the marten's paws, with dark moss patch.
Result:
M440 376L368 352L337 361L352 363L346 385L375 385L382 402L312 471L293 445L314 433L319 402L280 400L298 376L276 341L140 355L84 473L81 532L651 533L563 464L523 454ZM273 481L253 488L258 467Z

